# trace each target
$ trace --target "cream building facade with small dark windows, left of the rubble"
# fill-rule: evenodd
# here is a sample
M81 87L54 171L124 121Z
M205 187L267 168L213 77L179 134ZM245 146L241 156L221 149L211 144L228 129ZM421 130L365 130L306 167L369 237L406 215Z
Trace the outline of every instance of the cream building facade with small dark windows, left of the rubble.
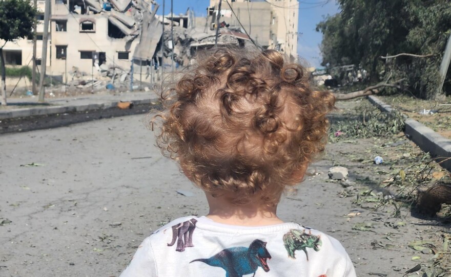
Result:
M102 72L101 68L106 68L106 64L109 67L130 70L134 50L141 39L141 22L151 14L153 2L139 2L140 9L135 7L130 0L114 1L114 3L116 6L112 5L113 1L51 0L47 75L59 76L61 81L66 82L66 78L68 81L72 78L68 73L76 72L78 75L98 76ZM120 5L124 7L124 10L121 10ZM38 0L37 8L36 59L37 64L40 65L42 63L40 57L43 47L45 1ZM153 12L155 11L156 9ZM159 24L159 22L157 23ZM161 29L161 27L159 28ZM159 37L161 32L157 34ZM155 51L159 37L152 43L153 51ZM31 66L32 39L25 38L7 42L4 47L4 55L5 63L8 66ZM152 56L148 58L148 60L151 59ZM102 67L102 65L104 66Z

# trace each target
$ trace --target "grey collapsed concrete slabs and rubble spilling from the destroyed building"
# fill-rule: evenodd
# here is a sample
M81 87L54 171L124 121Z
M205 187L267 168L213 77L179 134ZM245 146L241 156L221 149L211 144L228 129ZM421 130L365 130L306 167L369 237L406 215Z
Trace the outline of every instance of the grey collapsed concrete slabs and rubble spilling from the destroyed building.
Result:
M197 50L215 45L216 30L196 27L192 11L163 17L156 15L157 9L158 4L154 0L69 1L70 12L86 14L88 16L86 20L89 20L89 15L107 16L108 36L124 40L126 50L130 49L132 54L130 57L132 64L138 69L132 72L132 67L125 68L124 62L121 63L121 67L115 64L114 60L101 61L100 58L93 58L93 72L81 72L75 66L68 72L68 87L72 90L89 89L91 92L102 89L126 91L132 86L132 79L136 80L136 75L139 81L144 78L149 82L149 75L158 72L161 64L170 65L172 52L175 65L178 67L188 65ZM110 28L111 26L113 28ZM250 41L239 29L231 27L220 30L218 44L244 46ZM133 43L136 46L131 49L132 41L136 42L135 39L139 42Z

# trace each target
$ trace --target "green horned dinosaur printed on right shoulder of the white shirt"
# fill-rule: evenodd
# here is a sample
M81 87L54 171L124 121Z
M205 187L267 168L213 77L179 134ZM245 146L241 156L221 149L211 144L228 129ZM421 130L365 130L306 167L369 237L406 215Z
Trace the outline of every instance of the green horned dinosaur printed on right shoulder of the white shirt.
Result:
M294 252L296 250L302 250L305 252L308 261L307 247L319 251L322 242L320 236L312 235L311 231L307 234L305 230L291 229L290 232L283 235L283 244L285 245L286 251L288 251L288 257L296 259Z

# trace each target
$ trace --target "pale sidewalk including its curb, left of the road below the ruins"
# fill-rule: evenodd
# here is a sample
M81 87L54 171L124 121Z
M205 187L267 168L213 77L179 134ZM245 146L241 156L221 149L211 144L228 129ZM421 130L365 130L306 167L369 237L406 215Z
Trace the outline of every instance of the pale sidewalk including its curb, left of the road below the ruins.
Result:
M37 97L10 98L7 106L0 106L0 120L42 116L56 113L108 109L119 101L131 101L135 105L150 104L155 101L153 91L132 93L80 95L68 98L46 98L38 103Z

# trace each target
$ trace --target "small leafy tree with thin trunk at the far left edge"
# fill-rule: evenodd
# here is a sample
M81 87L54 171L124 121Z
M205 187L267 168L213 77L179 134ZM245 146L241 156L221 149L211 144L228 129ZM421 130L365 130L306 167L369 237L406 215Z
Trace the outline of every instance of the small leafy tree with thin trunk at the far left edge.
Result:
M6 69L3 48L8 41L33 35L36 10L27 0L0 0L0 73L2 74L1 103L6 105Z

